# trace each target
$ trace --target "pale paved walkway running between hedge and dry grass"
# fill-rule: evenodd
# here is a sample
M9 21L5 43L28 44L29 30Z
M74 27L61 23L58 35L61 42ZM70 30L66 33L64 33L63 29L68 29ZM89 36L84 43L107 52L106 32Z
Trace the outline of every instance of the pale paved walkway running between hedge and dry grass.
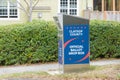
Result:
M103 61L92 61L90 65L108 65L108 64L120 64L120 59L118 60L103 60ZM57 63L53 64L40 64L40 65L29 65L29 66L9 66L0 67L0 75L10 74L10 73L20 73L20 72L34 72L34 71L50 71L57 70L59 65Z

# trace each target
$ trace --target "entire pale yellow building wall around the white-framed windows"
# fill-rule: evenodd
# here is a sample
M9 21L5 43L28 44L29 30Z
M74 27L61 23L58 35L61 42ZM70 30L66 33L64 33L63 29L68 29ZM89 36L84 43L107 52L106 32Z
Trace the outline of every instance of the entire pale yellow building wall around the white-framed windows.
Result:
M26 8L25 2L22 1L22 5L24 5ZM86 9L86 1L88 1L88 7L92 8L93 5L93 0L78 0L78 10L79 10L79 15L80 17L83 17L83 10ZM59 9L59 0L40 0L39 3L36 5L37 7L39 6L44 6L44 7L49 7L50 9L38 9L38 10L33 10L32 13L32 18L33 19L38 19L38 20L48 20L51 21L53 20L53 16L56 16L58 13ZM27 22L27 16L23 12L23 10L19 9L19 19L18 20L0 20L0 25L6 25L6 24L16 24L16 23L24 23ZM38 14L41 14L41 17L38 17Z

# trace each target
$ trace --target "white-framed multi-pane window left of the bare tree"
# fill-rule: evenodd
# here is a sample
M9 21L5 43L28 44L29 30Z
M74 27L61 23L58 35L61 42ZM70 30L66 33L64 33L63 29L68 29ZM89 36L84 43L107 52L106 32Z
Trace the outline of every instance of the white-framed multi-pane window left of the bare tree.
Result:
M0 18L18 18L17 2L0 0Z

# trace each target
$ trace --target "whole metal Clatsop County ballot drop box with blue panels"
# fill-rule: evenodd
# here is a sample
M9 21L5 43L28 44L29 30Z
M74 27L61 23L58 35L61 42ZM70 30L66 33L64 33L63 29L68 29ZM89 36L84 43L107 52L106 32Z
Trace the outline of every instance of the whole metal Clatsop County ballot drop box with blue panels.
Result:
M58 27L59 71L70 73L89 69L89 20L63 14L58 14L54 20Z

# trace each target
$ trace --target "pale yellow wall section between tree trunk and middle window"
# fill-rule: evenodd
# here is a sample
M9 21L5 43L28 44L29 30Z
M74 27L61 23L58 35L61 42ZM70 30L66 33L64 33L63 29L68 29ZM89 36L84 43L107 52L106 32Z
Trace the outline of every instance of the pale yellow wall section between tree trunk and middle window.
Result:
M58 0L40 0L37 6L49 7L50 10L33 10L33 19L53 20L53 16L58 13ZM38 17L39 13L41 18Z

